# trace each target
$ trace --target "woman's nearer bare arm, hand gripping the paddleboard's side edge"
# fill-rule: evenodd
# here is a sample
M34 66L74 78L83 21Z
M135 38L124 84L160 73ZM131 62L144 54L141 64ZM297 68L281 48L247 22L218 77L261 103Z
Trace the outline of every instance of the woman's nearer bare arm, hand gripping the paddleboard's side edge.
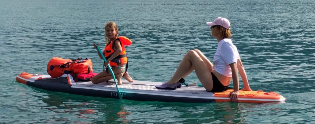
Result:
M233 80L233 89L234 89L234 91L232 91L229 94L229 97L231 98L232 102L237 102L238 94L239 94L239 92L238 92L239 84L238 84L238 71L237 71L238 69L237 69L236 62L231 63L230 67L231 67L231 70L232 70L232 80Z

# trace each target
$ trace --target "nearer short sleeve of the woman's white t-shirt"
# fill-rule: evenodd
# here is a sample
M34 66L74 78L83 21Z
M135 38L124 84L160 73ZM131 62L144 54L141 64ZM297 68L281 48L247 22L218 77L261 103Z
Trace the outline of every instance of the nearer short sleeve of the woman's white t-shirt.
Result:
M221 57L228 65L237 62L239 58L237 49L235 50L235 48L227 42L221 46Z

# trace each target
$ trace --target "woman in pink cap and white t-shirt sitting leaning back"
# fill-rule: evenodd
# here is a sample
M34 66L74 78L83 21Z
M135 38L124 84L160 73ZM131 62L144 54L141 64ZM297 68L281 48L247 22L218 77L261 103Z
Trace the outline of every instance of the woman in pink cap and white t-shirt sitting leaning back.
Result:
M234 91L229 94L229 97L232 102L237 102L239 94L238 71L244 83L242 90L251 91L251 89L238 50L230 39L230 21L226 18L218 17L212 22L207 22L207 25L211 26L211 35L218 40L218 47L213 59L214 65L201 51L197 49L190 50L180 62L173 77L168 82L155 87L157 89L180 88L178 80L185 78L195 70L199 81L209 92L226 91L232 79Z

